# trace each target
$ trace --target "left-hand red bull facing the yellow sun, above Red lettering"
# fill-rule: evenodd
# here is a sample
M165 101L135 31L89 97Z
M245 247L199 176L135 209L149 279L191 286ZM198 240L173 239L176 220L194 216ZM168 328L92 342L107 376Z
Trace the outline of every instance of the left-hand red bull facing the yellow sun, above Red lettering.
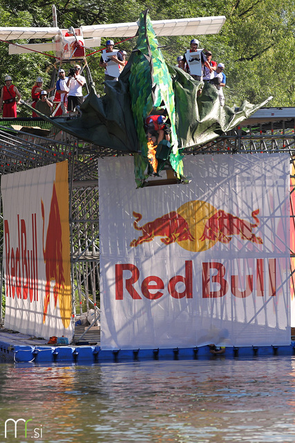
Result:
M142 219L141 214L133 212L133 217L135 217L133 226L136 230L141 230L142 235L134 239L130 246L136 247L144 242L151 242L155 236L162 237L161 242L164 244L194 239L187 221L175 211L149 221L143 226L138 226L138 221Z

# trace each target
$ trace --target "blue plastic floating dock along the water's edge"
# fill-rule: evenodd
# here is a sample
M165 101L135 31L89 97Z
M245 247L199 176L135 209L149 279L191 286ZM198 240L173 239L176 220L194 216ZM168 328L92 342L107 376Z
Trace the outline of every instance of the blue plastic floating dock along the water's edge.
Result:
M208 346L167 349L102 350L100 345L85 341L75 345L48 345L44 339L31 338L18 332L0 329L0 362L51 365L120 363L126 361L212 359ZM93 336L91 336L91 341ZM89 343L92 343L89 341ZM295 341L285 346L227 347L218 358L251 358L255 356L295 355Z

